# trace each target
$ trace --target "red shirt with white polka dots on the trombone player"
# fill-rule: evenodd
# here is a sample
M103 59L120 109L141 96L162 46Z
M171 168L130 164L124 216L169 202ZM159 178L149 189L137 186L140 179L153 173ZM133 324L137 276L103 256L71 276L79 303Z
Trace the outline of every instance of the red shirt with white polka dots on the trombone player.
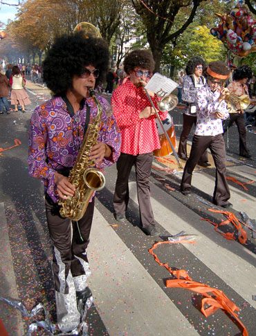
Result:
M157 108L160 98L152 97ZM145 107L151 106L143 87L136 87L130 80L113 91L112 107L116 122L121 131L121 152L136 156L137 154L151 153L161 148L156 127L156 117L139 118L139 113ZM157 109L158 110L158 109ZM167 118L168 112L158 110L161 120Z

